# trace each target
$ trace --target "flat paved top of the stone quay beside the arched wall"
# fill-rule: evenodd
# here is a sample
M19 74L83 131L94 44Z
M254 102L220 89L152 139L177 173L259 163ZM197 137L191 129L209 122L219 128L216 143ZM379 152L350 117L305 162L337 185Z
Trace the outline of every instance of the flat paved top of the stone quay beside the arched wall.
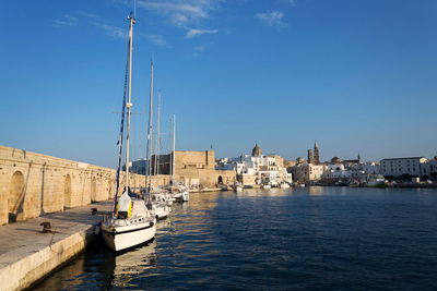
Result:
M0 269L76 232L92 231L102 216L92 215L91 208L109 211L111 205L111 201L94 203L0 227ZM42 232L43 227L39 223L44 221L51 223L52 233Z

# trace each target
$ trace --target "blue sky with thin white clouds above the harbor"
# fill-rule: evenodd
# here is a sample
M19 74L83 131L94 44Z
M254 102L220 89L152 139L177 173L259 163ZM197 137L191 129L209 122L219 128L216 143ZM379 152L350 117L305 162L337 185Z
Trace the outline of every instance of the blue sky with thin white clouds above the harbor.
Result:
M115 165L132 7L0 1L1 145ZM177 149L234 157L258 143L295 159L317 140L322 160L430 158L436 14L435 0L138 0L133 111L146 111L154 56Z

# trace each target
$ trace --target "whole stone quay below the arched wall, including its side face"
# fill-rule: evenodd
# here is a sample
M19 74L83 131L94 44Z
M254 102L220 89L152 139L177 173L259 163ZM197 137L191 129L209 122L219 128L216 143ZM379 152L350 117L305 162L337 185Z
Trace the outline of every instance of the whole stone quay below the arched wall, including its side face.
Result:
M111 205L93 207L107 211ZM82 206L1 227L0 289L27 288L83 252L97 238L101 220L90 206ZM44 222L50 223L50 231L43 232Z

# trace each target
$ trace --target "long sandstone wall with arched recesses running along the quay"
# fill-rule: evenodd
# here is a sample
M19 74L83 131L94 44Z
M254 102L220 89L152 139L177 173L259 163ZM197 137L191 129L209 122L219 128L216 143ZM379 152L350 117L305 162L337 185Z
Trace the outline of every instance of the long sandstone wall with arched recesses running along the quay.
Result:
M111 198L115 174L109 168L0 146L0 225ZM131 185L143 186L144 179L132 174ZM153 181L166 180L157 175Z

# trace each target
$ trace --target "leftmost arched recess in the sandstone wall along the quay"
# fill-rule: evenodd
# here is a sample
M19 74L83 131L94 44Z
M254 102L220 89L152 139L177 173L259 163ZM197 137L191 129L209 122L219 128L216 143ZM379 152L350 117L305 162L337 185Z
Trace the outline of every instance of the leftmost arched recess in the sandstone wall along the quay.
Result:
M23 215L24 203L24 175L16 171L12 175L11 184L9 185L8 211L9 223L15 222L19 216Z

